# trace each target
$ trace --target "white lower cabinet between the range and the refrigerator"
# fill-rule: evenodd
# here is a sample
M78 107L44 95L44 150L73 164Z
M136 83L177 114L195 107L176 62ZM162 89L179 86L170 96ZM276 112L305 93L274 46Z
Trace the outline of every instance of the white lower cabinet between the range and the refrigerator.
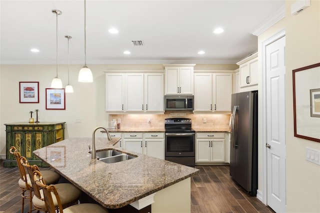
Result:
M198 132L195 135L195 162L225 162L224 132Z

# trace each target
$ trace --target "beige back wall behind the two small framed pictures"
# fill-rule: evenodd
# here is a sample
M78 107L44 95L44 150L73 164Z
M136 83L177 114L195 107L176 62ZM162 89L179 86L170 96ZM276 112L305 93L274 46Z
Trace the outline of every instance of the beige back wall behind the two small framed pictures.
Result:
M0 65L0 158L5 158L4 123L28 121L29 111L39 109L40 122L66 121L66 138L91 137L94 127L108 126L108 114L104 111L105 78L103 71L164 70L162 64L88 65L92 70L94 82L79 83L77 74L81 66L70 65L70 84L74 92L65 95L66 109L46 110L44 93L45 88L50 87L51 80L55 76L55 65ZM65 86L67 65L59 65L58 68L59 77ZM238 68L236 64L198 64L194 66L195 70L234 70L236 68ZM39 81L39 103L19 103L19 81ZM80 118L81 123L75 123L76 118ZM207 119L206 125L209 125L210 117L207 116ZM164 126L164 121L162 125Z

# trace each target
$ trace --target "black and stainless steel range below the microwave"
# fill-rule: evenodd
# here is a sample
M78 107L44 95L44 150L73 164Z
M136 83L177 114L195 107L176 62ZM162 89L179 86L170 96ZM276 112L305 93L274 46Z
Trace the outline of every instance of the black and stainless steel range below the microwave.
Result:
M183 165L195 165L195 131L190 118L166 118L165 159Z

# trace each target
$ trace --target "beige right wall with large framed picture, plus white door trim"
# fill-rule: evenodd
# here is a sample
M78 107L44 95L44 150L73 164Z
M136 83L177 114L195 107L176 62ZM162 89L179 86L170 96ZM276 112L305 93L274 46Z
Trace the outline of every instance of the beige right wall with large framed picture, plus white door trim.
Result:
M292 69L320 62L320 1L311 0L310 7L293 16L290 8L294 2L286 0L285 18L258 36L258 51L261 52L261 43L264 40L285 28L286 209L287 212L320 212L320 165L305 160L305 147L320 150L320 143L293 136L292 95ZM261 65L259 70L262 70ZM259 79L261 82L261 75ZM259 110L260 127L261 113ZM259 128L260 146L264 144L261 134L262 129ZM262 148L259 147L259 150L261 165ZM259 174L258 188L262 190L261 166Z

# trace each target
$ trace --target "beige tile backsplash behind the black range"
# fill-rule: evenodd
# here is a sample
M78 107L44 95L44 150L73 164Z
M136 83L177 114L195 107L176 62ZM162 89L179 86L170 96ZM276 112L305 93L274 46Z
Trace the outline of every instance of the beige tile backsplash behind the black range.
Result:
M170 113L185 113L176 116ZM188 111L166 111L164 114L109 114L109 121L113 118L121 119L121 128L164 128L164 119L169 117L191 118L192 128L227 128L229 126L230 114L194 114ZM206 122L203 123L203 118ZM150 119L150 123L148 120Z

